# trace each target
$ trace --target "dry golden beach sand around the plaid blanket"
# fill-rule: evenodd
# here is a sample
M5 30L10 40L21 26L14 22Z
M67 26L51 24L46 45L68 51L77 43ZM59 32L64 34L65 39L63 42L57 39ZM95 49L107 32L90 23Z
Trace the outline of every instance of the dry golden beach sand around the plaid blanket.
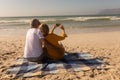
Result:
M13 61L23 56L25 36L0 36L0 80L10 80L5 73ZM64 73L32 77L27 80L120 80L120 31L70 34L63 41L68 52L89 52L113 66L107 70ZM20 80L20 79L18 79Z

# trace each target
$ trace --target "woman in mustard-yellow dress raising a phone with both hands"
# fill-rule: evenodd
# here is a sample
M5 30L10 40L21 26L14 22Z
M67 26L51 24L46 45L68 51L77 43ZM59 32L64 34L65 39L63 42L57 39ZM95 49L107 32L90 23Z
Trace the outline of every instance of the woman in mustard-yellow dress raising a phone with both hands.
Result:
M59 27L62 30L61 36L54 33L54 30L57 27ZM55 24L50 32L47 24L41 24L39 29L43 33L43 36L45 37L45 40L47 41L47 43L49 43L52 46L51 48L46 46L47 57L52 60L63 59L65 49L61 44L59 44L59 41L62 41L67 37L63 25Z

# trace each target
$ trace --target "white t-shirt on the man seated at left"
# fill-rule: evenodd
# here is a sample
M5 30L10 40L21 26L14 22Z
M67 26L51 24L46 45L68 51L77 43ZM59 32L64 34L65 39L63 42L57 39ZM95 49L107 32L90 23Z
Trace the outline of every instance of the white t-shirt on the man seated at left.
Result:
M24 58L39 57L43 53L40 42L42 38L44 38L42 33L36 28L27 31Z

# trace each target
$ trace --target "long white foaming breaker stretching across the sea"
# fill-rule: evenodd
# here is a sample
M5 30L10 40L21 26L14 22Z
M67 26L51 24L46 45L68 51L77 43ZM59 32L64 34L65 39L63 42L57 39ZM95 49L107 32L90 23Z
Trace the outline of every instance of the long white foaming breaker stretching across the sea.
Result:
M62 18L38 18L40 22L65 22L65 21L97 21L97 20L120 20L120 17L118 16L92 16L92 17L62 17ZM31 22L31 18L27 19L4 19L0 20L0 24L17 24L17 23L23 23L28 24Z

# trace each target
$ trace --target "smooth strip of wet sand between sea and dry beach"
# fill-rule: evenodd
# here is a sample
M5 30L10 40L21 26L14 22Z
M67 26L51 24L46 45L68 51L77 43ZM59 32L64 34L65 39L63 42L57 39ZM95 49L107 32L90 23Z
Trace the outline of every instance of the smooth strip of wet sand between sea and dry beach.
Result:
M0 29L0 36L25 36L28 29ZM92 27L92 28L71 28L71 29L65 28L65 31L68 35L101 33L101 32L119 32L120 27L115 26L115 27ZM55 33L61 34L61 30L56 29Z

